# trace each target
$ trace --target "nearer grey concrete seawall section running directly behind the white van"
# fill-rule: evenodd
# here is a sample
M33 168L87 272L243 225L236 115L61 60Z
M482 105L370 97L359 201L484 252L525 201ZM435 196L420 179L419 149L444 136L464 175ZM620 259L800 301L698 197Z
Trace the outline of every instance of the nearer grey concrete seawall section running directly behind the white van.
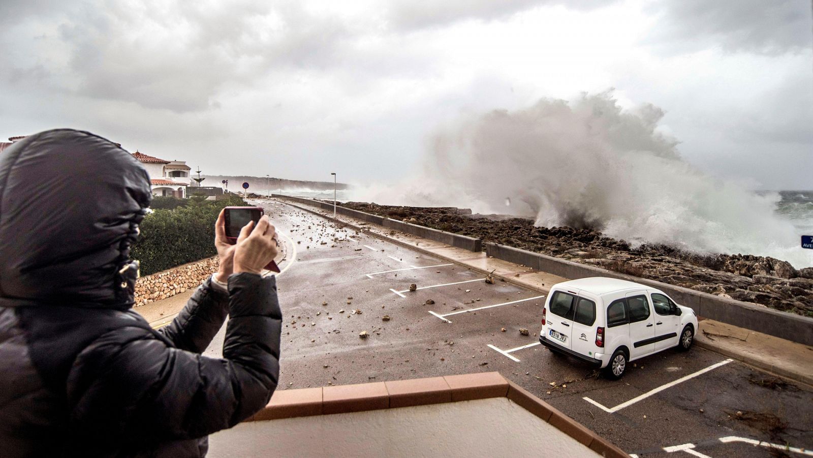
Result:
M565 278L611 277L634 281L643 285L663 290L680 305L692 308L698 316L729 325L751 329L763 334L786 338L793 342L813 345L813 318L780 312L753 303L723 298L713 294L689 290L647 278L633 277L604 268L560 260L552 256L541 255L533 251L520 250L512 246L485 244L486 254L498 260L553 273Z

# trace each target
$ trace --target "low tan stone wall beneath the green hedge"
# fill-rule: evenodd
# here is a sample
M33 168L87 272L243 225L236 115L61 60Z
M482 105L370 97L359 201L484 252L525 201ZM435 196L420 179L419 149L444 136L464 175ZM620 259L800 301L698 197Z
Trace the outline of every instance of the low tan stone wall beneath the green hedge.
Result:
M136 281L135 307L197 288L217 271L217 265L217 256L213 256L139 278Z

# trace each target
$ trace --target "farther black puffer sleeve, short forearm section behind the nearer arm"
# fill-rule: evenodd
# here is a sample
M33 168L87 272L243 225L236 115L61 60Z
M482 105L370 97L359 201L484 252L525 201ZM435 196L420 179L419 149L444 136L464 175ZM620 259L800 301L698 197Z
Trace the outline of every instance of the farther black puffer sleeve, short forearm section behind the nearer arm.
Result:
M159 333L181 350L202 353L228 315L228 293L215 288L211 277L195 290L175 320Z

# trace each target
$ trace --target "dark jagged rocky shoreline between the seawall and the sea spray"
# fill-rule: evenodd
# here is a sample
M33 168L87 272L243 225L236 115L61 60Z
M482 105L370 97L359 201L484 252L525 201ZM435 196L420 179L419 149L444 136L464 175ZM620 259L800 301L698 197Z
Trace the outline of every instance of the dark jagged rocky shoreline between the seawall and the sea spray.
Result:
M632 248L624 240L605 237L598 231L536 227L529 219L471 215L470 211L454 207L396 207L359 202L342 206L783 312L813 316L813 268L796 269L771 257L699 255L663 245Z

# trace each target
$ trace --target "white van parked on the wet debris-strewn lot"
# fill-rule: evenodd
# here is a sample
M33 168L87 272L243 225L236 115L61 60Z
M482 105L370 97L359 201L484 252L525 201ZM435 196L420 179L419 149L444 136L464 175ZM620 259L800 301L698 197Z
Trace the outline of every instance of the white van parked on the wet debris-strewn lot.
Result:
M629 361L671 347L689 350L697 329L694 311L661 290L591 277L550 288L539 342L618 379Z

